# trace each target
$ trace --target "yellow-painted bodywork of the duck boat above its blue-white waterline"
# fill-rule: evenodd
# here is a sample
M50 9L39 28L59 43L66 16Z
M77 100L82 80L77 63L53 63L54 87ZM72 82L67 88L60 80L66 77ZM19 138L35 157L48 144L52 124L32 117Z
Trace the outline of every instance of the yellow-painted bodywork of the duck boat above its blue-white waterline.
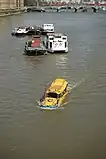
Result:
M56 79L47 88L45 93L45 98L42 101L43 106L61 106L64 103L70 89L68 87L68 82L65 79ZM51 95L52 93L52 95ZM56 97L53 96L56 95Z

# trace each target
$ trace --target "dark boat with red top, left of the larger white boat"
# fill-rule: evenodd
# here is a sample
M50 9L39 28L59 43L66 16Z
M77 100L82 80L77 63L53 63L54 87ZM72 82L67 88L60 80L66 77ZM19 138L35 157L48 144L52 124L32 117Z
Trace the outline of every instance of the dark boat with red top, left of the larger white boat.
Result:
M47 55L46 47L39 35L26 42L25 54L29 56Z

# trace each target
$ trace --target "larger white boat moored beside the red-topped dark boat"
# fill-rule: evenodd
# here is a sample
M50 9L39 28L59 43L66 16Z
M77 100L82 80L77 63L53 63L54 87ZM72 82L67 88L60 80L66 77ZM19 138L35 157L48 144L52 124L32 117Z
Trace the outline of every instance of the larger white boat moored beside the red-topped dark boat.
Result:
M68 52L67 36L62 33L48 33L44 43L49 52Z

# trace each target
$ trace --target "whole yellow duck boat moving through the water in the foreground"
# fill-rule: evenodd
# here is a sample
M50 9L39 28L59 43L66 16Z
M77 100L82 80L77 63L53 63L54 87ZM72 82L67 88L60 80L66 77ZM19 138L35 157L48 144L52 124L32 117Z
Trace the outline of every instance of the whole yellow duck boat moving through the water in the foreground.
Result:
M68 82L65 79L58 78L48 86L44 96L37 102L39 108L49 110L57 109L65 103L69 93Z

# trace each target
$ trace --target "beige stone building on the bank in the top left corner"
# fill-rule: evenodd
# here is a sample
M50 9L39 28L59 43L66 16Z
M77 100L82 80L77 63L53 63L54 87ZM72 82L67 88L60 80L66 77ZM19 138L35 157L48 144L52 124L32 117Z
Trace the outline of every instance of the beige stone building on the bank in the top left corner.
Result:
M24 7L24 0L0 0L0 9L16 9Z

